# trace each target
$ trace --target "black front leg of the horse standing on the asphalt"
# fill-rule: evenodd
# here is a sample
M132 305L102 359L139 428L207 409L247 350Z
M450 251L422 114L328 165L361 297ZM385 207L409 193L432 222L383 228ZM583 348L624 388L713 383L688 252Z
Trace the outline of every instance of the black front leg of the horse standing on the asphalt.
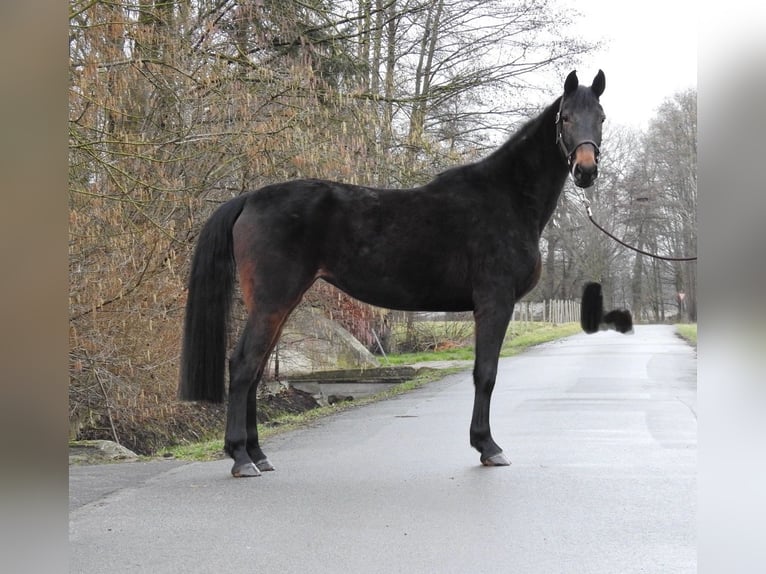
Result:
M511 461L503 454L492 438L489 428L489 407L492 390L497 377L497 362L503 345L513 303L506 305L477 306L474 311L476 324L476 361L473 367L475 396L471 418L471 446L481 454L485 466L508 466Z

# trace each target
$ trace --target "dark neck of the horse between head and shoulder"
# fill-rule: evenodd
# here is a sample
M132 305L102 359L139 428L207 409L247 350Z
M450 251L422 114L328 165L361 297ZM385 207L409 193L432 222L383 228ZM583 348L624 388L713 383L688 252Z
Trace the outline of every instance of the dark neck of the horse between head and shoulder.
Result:
M567 178L566 160L556 145L557 102L482 162L492 180L499 182L501 193L511 194L540 232L553 215Z

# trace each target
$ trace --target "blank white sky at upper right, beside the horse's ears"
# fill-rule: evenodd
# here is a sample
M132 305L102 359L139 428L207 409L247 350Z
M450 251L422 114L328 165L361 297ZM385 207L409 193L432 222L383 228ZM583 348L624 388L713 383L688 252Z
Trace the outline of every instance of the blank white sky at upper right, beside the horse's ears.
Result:
M560 0L583 14L575 28L584 39L603 40L578 68L590 83L606 74L601 97L613 124L645 128L674 93L697 87L698 2L690 0Z

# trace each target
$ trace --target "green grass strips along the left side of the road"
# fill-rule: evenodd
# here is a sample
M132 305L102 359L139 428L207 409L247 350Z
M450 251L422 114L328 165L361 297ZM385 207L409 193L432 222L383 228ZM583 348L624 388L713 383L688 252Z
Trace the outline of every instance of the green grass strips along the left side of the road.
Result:
M548 323L515 323L511 325L506 334L503 347L500 352L501 357L511 357L518 355L522 351L547 343L562 337L568 337L581 332L579 323L566 323L563 325L551 325ZM696 335L696 326L695 326ZM696 339L695 339L696 340ZM391 365L413 364L425 361L452 361L452 360L473 360L473 347L453 348L444 351L433 351L427 353L406 353L401 355L389 355ZM385 361L383 361L385 364ZM322 417L331 414L343 412L362 405L367 405L375 401L380 401L406 393L413 389L422 387L426 383L440 380L447 375L461 371L460 367L439 370L423 370L415 378L396 385L386 391L376 395L357 399L351 402L336 403L326 407L317 407L310 411L300 414L285 414L276 417L264 425L258 426L258 435L260 439L266 439L278 433L295 430L306 426ZM207 440L194 444L179 445L164 449L163 453L172 455L181 460L206 461L225 458L223 453L223 440Z

